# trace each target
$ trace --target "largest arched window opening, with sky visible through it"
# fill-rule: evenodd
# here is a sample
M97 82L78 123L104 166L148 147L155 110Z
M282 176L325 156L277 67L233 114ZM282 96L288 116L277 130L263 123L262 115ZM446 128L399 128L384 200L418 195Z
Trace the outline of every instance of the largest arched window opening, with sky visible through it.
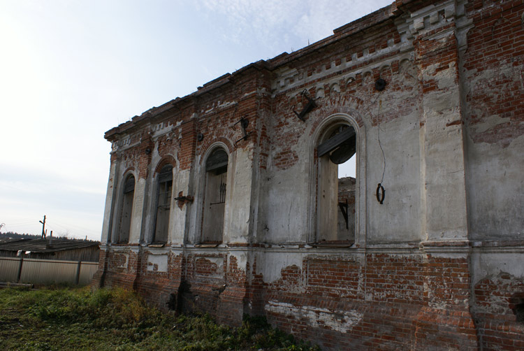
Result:
M347 124L335 124L323 135L316 148L317 240L351 245L356 218L356 131Z

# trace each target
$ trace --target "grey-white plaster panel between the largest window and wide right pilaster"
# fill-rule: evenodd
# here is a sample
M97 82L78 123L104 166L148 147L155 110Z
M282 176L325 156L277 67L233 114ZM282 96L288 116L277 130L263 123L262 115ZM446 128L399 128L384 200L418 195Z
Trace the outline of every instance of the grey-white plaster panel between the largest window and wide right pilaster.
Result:
M385 160L378 143L379 128ZM370 217L370 233L367 234L368 243L419 240L421 227L418 219L422 211L418 117L398 117L380 124L370 133L374 135L367 149L367 161L374 167L370 167L367 184L376 187L384 171L381 184L386 189L386 206L376 200L368 203L367 210L373 213ZM397 138L385 138L385 135L395 135ZM401 211L398 210L400 208Z

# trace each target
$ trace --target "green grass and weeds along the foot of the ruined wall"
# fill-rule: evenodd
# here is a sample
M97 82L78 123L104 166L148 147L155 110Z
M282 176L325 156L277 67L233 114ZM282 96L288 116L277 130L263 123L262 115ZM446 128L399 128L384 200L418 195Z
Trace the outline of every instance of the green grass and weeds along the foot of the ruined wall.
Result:
M0 289L0 350L319 350L261 317L240 328L150 308L124 289Z

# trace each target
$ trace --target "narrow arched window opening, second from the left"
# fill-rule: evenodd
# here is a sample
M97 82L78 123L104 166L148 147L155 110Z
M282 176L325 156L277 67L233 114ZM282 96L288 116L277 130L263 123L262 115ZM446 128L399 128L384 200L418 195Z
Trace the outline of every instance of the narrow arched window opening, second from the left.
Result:
M173 166L167 164L160 170L157 187L157 219L154 226L154 243L168 241L171 193L173 192Z

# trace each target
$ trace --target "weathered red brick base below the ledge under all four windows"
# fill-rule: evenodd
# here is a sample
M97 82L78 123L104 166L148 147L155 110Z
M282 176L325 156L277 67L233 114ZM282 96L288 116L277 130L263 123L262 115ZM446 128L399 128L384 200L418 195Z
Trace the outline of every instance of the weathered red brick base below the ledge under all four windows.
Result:
M119 255L109 261L117 264ZM147 262L147 251L140 255ZM166 309L174 294L182 299L182 310L210 313L230 325L239 325L244 313L263 314L326 349L476 347L474 322L464 306L467 259L421 253L313 255L305 257L302 268L282 268L281 278L268 283L256 274L256 262L252 269L239 267L233 255L169 255L168 272L147 271L144 263L134 272L108 268L106 285L131 282L132 287L136 278L137 291L150 303Z

